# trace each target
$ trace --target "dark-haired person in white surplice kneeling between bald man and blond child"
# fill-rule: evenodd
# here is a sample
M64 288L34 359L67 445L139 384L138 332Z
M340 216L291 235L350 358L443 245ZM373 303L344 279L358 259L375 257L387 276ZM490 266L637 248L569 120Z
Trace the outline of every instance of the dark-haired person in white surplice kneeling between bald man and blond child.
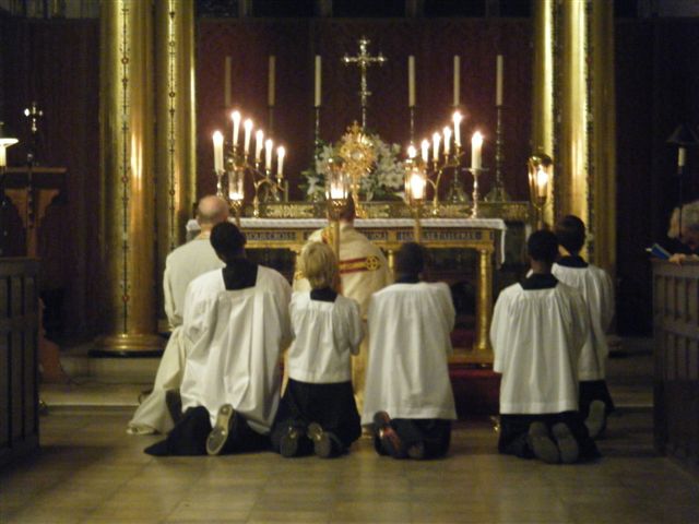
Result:
M269 445L279 358L291 341L292 288L280 273L245 257L245 236L234 224L216 225L211 243L226 266L187 289L182 336L191 349L180 388L183 415L165 441L146 450L151 454Z

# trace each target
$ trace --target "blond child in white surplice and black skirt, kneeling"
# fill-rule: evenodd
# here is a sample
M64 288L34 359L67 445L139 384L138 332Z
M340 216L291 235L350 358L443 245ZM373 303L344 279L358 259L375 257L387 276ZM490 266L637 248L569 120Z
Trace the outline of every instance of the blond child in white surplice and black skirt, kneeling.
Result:
M294 342L288 383L272 428L283 456L345 453L362 428L352 391L352 355L364 337L359 305L339 295L337 259L322 242L301 251L299 270L310 291L295 291L289 312Z

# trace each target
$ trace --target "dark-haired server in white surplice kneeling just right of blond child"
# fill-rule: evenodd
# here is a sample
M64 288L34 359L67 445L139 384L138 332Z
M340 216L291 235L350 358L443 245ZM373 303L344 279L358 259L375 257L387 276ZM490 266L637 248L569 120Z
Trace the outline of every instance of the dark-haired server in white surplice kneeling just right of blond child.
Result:
M362 424L375 446L395 458L428 458L449 450L457 418L449 379L455 312L447 284L420 282L423 248L404 243L396 281L371 297L369 365Z

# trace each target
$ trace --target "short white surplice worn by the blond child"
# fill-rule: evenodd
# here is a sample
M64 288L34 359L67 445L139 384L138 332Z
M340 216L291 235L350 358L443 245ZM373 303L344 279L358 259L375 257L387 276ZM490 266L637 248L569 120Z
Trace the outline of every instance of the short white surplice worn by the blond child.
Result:
M295 291L289 307L294 342L288 350L289 378L313 384L352 380L351 355L364 338L359 305L337 295L334 302Z

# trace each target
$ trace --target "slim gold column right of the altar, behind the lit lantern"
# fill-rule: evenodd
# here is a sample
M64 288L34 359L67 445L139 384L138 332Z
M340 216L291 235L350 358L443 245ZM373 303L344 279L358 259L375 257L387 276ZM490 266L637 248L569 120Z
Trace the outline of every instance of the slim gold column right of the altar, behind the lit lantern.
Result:
M532 86L532 153L554 156L554 0L533 2L534 60ZM522 166L522 176L526 166ZM554 187L548 184L548 196L544 205L544 222L554 223Z

